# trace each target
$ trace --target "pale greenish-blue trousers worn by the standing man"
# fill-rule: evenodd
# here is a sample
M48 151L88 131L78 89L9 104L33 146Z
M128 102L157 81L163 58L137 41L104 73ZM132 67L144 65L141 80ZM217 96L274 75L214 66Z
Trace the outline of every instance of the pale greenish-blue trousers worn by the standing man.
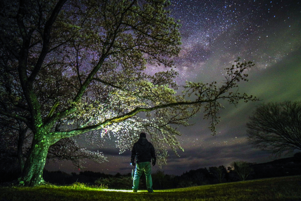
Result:
M136 164L136 170L133 181L133 191L137 191L139 188L139 179L144 172L146 176L146 188L148 192L153 191L153 181L151 180L151 162L140 162Z

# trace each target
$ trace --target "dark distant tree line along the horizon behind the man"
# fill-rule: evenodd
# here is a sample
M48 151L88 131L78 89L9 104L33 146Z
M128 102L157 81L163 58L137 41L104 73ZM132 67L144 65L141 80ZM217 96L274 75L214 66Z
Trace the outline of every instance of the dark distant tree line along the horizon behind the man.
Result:
M165 174L164 171L152 173L154 189L171 189L207 184L218 184L234 181L244 181L268 177L282 177L301 174L301 152L293 157L278 159L272 162L254 164L243 161L233 162L230 167L199 168L186 171L182 175ZM13 172L2 174L0 182L17 179L19 175ZM46 182L57 185L69 185L75 182L87 185L106 185L110 189L131 189L131 174L104 174L100 172L82 171L79 174L67 174L62 171L44 170L43 177ZM140 189L146 189L145 177L140 178Z

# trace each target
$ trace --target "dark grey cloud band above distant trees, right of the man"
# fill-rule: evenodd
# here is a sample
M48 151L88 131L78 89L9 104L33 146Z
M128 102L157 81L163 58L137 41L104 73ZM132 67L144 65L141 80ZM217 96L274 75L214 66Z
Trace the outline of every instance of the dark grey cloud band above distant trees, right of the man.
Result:
M262 160L258 160L260 158ZM260 163L266 159L272 159L268 152L253 149L247 142L207 148L193 147L186 149L179 158L168 158L167 165L163 165L163 170L166 174L182 174L191 169L219 165L228 167L234 161Z

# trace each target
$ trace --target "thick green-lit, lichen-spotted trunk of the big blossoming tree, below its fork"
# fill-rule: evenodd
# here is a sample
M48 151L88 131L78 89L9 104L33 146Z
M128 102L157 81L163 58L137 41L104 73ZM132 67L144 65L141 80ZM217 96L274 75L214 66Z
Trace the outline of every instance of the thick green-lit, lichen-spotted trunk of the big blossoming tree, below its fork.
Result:
M42 175L50 143L45 135L38 136L33 139L30 154L22 171L20 184L25 186L38 186L44 183Z

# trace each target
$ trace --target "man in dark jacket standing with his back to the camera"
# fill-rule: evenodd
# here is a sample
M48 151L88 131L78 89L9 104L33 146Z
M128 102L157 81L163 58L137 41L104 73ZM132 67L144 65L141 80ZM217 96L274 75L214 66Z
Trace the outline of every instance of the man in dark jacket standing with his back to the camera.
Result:
M147 141L146 134L140 133L139 140L134 144L132 149L131 164L135 166L136 159L136 170L133 181L133 192L137 193L139 188L139 179L141 174L144 172L146 176L146 187L149 193L154 193L153 182L151 180L151 161L152 165L156 164L156 155L154 146Z

